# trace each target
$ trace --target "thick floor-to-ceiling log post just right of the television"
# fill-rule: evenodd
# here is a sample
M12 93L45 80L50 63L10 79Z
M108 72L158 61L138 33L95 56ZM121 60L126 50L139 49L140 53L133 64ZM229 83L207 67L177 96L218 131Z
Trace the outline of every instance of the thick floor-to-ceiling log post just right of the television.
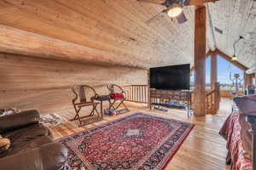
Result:
M195 7L194 115L206 116L206 7Z

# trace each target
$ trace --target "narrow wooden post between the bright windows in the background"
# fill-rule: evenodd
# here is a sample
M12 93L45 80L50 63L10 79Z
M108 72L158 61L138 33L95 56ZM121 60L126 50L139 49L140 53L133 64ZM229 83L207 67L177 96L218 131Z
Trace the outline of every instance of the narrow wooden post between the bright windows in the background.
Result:
M216 82L218 81L218 69L217 69L217 54L211 53L211 88L215 89Z

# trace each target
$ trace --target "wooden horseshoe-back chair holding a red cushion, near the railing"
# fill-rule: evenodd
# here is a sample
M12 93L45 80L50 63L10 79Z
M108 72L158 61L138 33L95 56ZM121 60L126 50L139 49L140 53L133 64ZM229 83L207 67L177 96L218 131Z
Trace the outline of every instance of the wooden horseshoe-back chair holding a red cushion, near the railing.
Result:
M123 105L124 109L121 111L129 111L129 109L127 108L127 106L125 105L125 92L123 90L123 88L119 87L116 84L108 84L107 88L109 90L109 95L111 96L112 94L123 94L122 98L119 99L113 99L113 102L111 102L109 109L113 108L114 110L118 110L119 106ZM119 105L117 105L116 107L114 106L114 104L119 101ZM120 112L120 111L119 111Z

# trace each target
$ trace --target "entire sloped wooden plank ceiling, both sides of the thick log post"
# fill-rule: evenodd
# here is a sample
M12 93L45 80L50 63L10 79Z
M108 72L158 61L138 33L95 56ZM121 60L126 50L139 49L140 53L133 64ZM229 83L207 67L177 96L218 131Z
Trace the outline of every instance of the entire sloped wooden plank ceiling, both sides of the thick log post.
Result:
M253 44L256 44L253 42L256 39L256 17L253 18L256 4L252 0L220 0L207 4L210 9L207 50L217 47L231 55L232 43L239 35L244 35L248 40L241 42L238 59L243 65L252 67L255 58ZM97 53L105 59L103 62L113 54L120 57L119 65L122 65L120 62L128 65L127 60L131 61L129 65L137 67L143 67L143 64L144 67L193 65L194 7L184 8L188 21L183 25L178 25L165 14L149 24L145 23L162 9L161 6L136 0L0 0L0 24L102 51L104 53ZM212 31L214 26L224 33L218 35ZM0 44L1 41L0 38ZM4 51L1 45L0 49ZM53 53L50 57L60 59L58 54ZM68 54L67 59L87 58L86 54L79 55ZM65 57L61 56L61 59Z

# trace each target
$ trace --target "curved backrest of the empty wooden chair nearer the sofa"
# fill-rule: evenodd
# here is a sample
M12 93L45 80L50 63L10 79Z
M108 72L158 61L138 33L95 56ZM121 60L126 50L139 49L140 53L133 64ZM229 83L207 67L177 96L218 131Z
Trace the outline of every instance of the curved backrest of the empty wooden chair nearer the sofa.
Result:
M73 93L75 94L73 103L76 102L77 99L79 99L80 103L90 102L92 98L97 95L95 89L87 85L74 86Z

